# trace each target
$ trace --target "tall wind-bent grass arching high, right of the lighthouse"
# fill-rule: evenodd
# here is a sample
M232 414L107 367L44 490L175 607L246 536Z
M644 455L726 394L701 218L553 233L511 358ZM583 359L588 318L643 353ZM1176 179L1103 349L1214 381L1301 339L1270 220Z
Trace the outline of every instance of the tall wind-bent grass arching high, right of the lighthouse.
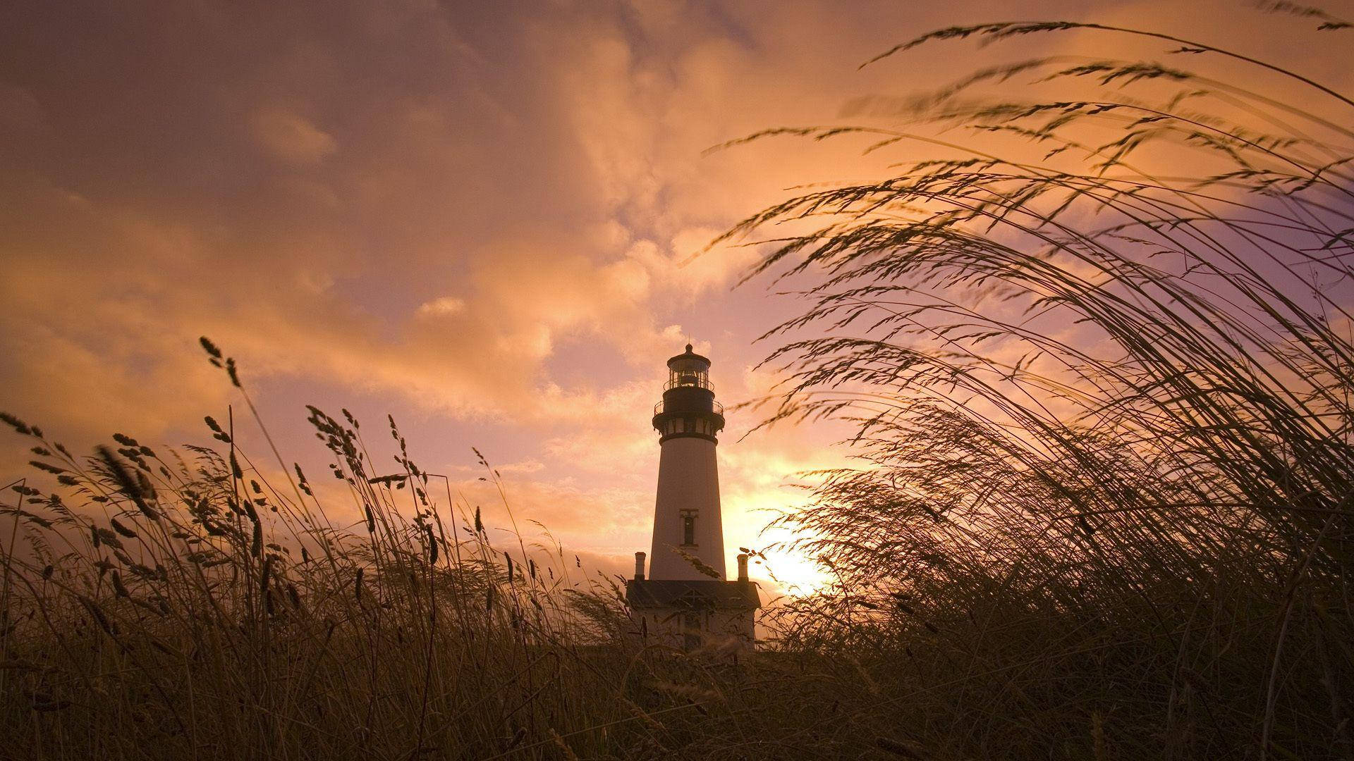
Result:
M781 519L835 578L785 647L956 757L1354 757L1354 102L1098 24L873 65L1070 31L1224 73L1045 57L884 103L902 129L753 135L922 154L730 233L795 230L758 267L810 302L772 420L854 421L862 460Z

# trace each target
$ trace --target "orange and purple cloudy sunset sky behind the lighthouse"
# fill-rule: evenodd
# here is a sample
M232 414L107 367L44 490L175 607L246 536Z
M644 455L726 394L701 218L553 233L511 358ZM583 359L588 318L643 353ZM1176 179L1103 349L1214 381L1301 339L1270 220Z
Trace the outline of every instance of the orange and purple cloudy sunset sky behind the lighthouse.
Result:
M1343 11L1343 8L1332 8ZM772 390L758 336L798 313L735 287L757 246L719 233L858 152L770 139L857 123L849 104L936 88L986 53L955 43L858 65L940 26L1128 22L1335 76L1239 3L221 0L0 8L0 409L74 451L114 431L209 443L240 363L288 460L324 466L305 405L347 408L494 512L623 570L649 546L653 405L688 341L728 405ZM1244 22L1244 23L1243 23ZM1067 35L1005 53L1060 45ZM1160 56L1164 47L1148 46ZM1047 50L1040 50L1047 51ZM1007 56L1007 57L1009 57ZM1304 60L1307 58L1307 60ZM696 256L700 255L700 256ZM839 466L841 429L749 431L734 410L726 544L761 547ZM745 435L747 435L745 437ZM260 444L249 428L246 443ZM0 478L23 474L0 444ZM728 558L733 563L734 552ZM773 558L811 581L804 558ZM761 571L758 571L761 573Z

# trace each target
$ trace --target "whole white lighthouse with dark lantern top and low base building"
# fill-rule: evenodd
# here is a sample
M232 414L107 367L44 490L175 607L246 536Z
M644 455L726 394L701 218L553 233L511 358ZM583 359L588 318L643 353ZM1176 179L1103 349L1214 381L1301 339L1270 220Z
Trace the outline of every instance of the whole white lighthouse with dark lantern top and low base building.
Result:
M635 552L635 577L626 585L639 634L688 650L750 646L761 599L747 578L746 554L738 555L738 578L724 580L716 458L724 409L715 401L709 360L691 344L668 360L653 424L659 454L650 565Z

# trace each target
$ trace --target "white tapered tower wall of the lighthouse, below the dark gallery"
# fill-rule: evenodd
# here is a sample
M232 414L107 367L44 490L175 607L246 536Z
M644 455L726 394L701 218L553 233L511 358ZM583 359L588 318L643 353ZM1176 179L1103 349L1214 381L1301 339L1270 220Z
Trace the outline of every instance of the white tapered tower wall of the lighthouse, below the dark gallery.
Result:
M658 455L658 498L649 578L712 578L696 570L673 547L701 559L724 578L724 528L719 509L719 466L715 443L685 436L662 443ZM684 546L684 512L695 517L695 546Z

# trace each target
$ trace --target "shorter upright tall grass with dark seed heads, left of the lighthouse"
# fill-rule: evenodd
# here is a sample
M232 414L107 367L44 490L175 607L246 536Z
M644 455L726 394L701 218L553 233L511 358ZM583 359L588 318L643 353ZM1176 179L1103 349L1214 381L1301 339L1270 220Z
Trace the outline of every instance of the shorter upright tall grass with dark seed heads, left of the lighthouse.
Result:
M7 757L642 757L723 737L703 704L728 714L709 687L727 659L627 636L616 582L558 546L492 544L393 418L368 441L310 408L336 486L255 460L229 417L206 418L215 448L119 433L85 458L3 420L41 471L3 510Z

